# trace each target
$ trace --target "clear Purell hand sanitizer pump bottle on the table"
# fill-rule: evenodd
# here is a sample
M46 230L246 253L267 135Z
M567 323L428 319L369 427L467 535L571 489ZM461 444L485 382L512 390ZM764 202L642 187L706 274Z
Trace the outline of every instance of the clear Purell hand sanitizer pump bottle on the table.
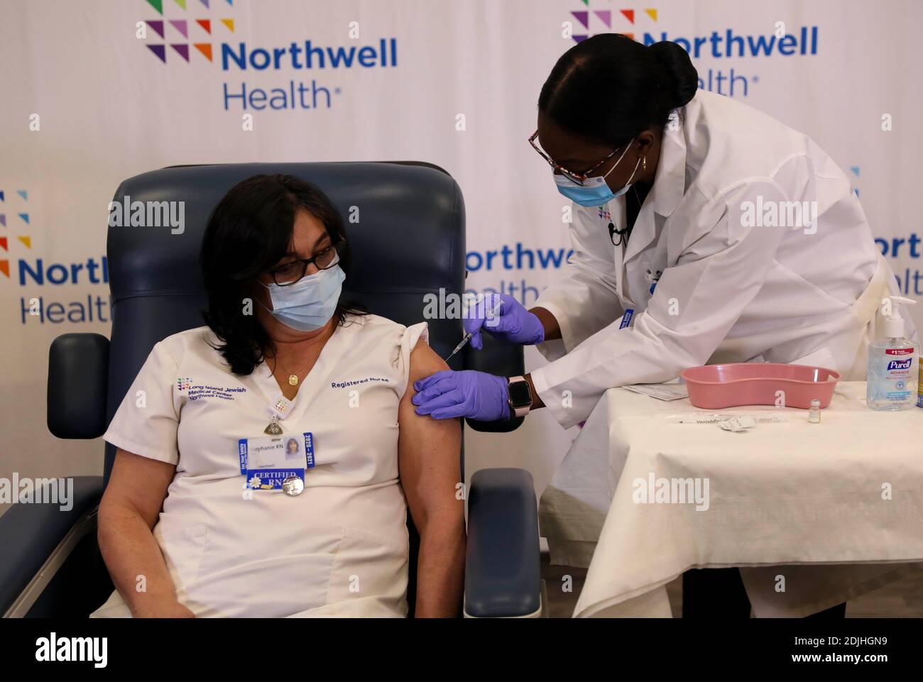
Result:
M919 349L904 337L900 305L916 304L903 296L891 296L891 315L885 316L884 337L869 346L866 403L872 410L909 410L917 404L917 355Z

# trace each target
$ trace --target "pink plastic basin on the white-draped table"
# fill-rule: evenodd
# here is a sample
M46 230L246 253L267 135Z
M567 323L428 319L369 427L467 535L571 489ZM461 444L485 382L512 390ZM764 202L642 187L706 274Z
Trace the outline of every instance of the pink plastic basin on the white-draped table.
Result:
M807 410L810 401L830 405L840 374L812 365L733 363L689 367L679 375L689 389L689 402L706 410L740 405L774 405L776 391L785 391L785 407Z

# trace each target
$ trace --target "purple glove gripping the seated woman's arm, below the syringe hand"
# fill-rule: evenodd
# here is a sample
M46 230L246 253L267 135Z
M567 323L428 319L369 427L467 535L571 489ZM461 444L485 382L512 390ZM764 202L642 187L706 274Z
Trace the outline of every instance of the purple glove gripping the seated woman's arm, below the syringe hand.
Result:
M444 369L414 382L417 414L433 419L469 417L481 422L509 419L509 381L485 372Z

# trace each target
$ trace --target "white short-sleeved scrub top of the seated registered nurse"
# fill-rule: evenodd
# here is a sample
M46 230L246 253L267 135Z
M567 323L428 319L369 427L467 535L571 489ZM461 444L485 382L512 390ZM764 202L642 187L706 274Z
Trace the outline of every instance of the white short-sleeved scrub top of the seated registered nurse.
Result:
M153 534L181 604L196 616L406 615L398 404L421 337L425 322L374 315L335 329L280 422L314 435L297 497L247 491L240 473L238 439L265 437L282 397L269 366L232 374L207 327L154 346L104 438L176 465ZM129 615L118 592L93 614Z

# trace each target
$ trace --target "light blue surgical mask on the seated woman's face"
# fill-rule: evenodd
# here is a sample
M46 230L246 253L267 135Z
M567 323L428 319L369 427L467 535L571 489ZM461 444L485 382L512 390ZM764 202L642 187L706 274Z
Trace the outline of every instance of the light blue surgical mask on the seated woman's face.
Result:
M340 300L346 273L339 265L306 275L294 284L279 286L275 282L263 284L270 290L270 313L286 327L298 331L320 329L333 317ZM262 305L262 304L260 304Z

